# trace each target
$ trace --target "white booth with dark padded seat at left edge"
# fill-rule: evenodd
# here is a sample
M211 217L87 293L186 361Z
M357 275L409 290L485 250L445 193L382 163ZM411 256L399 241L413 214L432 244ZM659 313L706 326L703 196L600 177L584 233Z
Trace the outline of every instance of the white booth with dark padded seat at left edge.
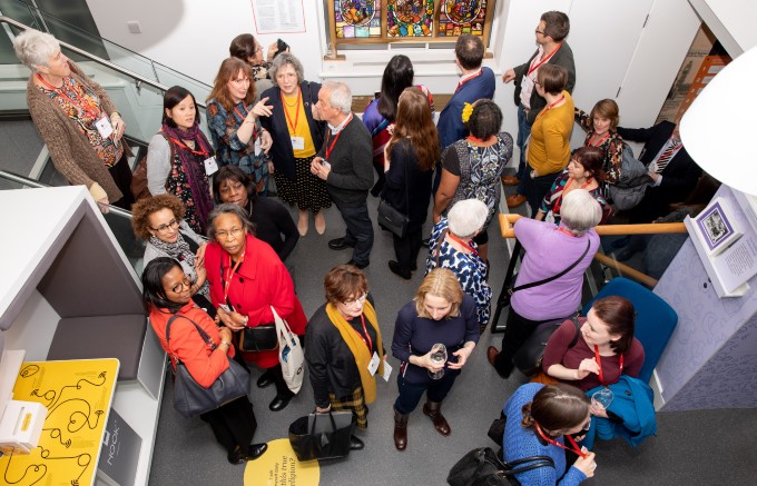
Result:
M144 315L137 274L83 186L0 191L3 230L0 343L47 360L58 323ZM141 437L136 485L147 485L166 360L149 326L134 379L119 380L112 409ZM120 376L120 375L119 375Z

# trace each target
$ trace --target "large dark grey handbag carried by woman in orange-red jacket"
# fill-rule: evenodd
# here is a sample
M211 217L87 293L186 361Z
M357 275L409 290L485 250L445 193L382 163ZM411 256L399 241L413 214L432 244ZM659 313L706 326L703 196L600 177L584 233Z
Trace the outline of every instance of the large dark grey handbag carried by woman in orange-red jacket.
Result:
M197 325L194 320L186 316L174 315L166 324L166 341L170 350L170 326L177 317L183 317L195 325L203 340L210 346L210 349L216 349L210 336ZM187 418L195 417L206 411L215 410L216 408L228 404L239 397L246 396L249 391L249 374L234 359L228 359L228 368L220 374L209 388L200 386L195 378L191 377L189 370L184 363L179 360L178 356L170 353L171 358L176 365L175 381L174 381L174 408Z

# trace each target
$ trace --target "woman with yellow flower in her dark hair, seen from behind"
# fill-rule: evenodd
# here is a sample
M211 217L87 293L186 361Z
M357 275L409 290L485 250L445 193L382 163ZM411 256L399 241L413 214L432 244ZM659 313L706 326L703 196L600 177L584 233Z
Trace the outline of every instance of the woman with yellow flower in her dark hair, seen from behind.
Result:
M463 109L470 135L442 153L442 179L434 198L434 224L448 208L464 199L479 199L489 208L489 217L475 236L479 255L486 261L486 229L500 204L500 176L512 157L512 136L501 132L502 111L494 101L481 99L473 110Z

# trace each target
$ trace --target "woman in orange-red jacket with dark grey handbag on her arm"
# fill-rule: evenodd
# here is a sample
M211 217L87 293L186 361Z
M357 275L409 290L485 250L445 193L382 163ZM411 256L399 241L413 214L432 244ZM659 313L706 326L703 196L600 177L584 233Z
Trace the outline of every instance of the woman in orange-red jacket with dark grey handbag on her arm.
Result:
M209 387L228 368L226 356L234 356L232 331L216 326L210 316L191 301L190 287L189 278L173 258L158 257L142 271L142 300L160 346L169 356L184 363L195 381ZM171 324L169 347L166 326L175 315L185 318ZM208 334L213 348L203 340L191 321ZM176 366L174 359L170 361ZM268 447L266 444L250 444L257 421L247 396L206 411L200 418L210 424L216 440L226 448L232 464L257 459Z

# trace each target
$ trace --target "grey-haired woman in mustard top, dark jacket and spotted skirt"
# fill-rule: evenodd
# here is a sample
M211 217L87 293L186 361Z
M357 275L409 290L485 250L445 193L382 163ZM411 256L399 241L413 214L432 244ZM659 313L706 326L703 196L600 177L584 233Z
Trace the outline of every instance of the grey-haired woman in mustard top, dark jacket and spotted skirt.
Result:
M308 212L313 212L315 230L323 235L326 219L322 209L332 205L326 182L311 173L311 161L323 145L326 123L313 118L321 85L305 80L303 65L288 52L282 52L271 65L275 87L260 95L273 106L260 123L271 132L274 145L274 180L282 200L299 210L297 230L307 234Z

